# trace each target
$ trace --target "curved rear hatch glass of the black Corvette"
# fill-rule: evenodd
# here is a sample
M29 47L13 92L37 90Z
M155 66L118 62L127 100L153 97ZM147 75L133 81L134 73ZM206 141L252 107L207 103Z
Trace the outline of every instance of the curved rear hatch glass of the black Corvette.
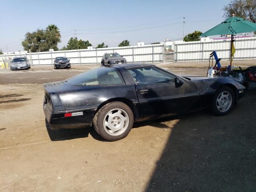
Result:
M112 67L99 67L64 80L72 85L121 85L124 80L120 72Z

